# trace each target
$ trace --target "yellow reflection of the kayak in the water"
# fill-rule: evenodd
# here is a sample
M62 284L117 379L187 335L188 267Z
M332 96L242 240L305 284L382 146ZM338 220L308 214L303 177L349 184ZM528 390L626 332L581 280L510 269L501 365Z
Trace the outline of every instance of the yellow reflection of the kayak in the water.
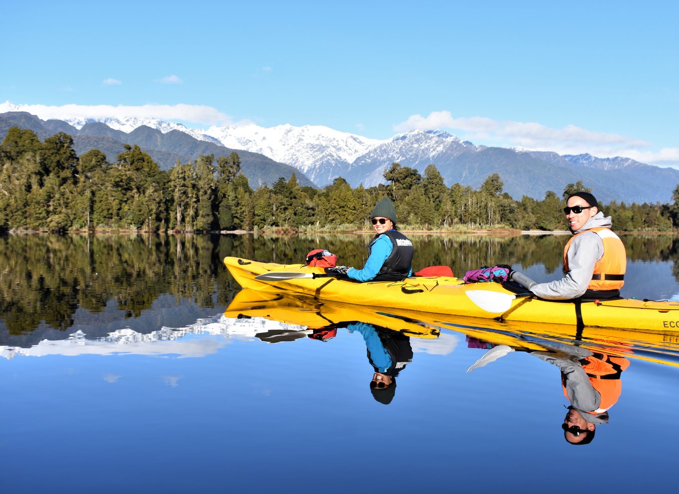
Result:
M577 345L593 352L679 365L679 334L616 328L574 328L545 323L507 322L448 314L405 311L318 300L299 294L243 289L225 317L263 317L299 326L300 330L341 328L350 321L369 323L416 338L437 338L441 331L462 333L519 351L549 351L553 342ZM307 333L310 331L307 331ZM304 337L304 336L299 336ZM294 339L294 338L293 338Z

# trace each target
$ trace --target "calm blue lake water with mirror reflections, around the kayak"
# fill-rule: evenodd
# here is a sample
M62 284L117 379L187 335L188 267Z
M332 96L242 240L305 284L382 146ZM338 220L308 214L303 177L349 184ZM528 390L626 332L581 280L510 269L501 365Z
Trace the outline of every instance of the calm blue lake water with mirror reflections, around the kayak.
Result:
M568 239L411 238L416 269L536 281ZM394 317L240 291L221 262L327 248L360 266L368 240L0 236L2 491L674 491L679 332ZM623 296L678 300L679 239L623 241ZM367 345L396 334L411 362L373 393ZM621 391L576 447L559 365L585 357Z

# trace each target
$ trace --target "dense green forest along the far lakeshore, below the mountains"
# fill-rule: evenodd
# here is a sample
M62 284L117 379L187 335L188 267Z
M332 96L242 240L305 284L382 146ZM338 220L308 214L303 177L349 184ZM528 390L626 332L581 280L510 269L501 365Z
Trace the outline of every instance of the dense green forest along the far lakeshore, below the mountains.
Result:
M183 231L359 230L380 198L394 200L404 230L514 228L563 230L563 199L595 187L571 183L547 191L543 200L514 200L494 173L473 190L447 187L435 164L424 175L393 163L380 186L352 189L337 178L323 190L301 187L293 175L253 190L235 152L215 160L200 156L170 171L139 146L109 162L97 149L77 156L73 139L57 133L40 141L31 130L12 127L0 144L2 231ZM274 179L274 177L272 177ZM679 186L672 204L602 205L615 230L668 232L679 226Z

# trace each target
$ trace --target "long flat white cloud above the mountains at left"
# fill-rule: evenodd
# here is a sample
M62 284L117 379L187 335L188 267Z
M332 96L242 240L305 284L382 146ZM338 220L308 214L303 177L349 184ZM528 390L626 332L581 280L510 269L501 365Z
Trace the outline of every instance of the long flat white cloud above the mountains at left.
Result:
M10 106L12 109L10 109ZM3 109L7 107L7 109ZM202 125L230 125L233 119L205 105L0 105L0 111L28 111L42 120L56 118L159 118L160 120L193 122Z

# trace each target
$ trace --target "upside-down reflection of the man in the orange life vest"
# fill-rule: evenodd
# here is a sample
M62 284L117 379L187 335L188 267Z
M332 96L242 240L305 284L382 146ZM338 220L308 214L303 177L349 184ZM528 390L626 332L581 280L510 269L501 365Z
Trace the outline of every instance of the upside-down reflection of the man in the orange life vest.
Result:
M594 353L582 347L549 343L552 351L532 351L533 355L561 370L564 395L570 406L564 418L564 438L571 444L588 444L596 426L608 423L608 409L620 398L621 374L629 360L608 353Z

